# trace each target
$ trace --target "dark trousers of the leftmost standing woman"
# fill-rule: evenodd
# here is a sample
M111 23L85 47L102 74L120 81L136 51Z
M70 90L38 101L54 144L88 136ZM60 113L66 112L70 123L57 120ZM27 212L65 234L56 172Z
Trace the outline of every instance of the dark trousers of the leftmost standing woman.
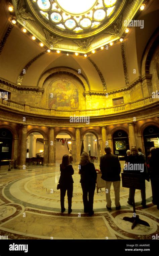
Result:
M65 208L64 200L65 200L66 190L67 190L67 199L68 199L68 209L71 209L72 196L73 196L73 183L70 183L68 185L61 185L61 188L60 188L61 210Z

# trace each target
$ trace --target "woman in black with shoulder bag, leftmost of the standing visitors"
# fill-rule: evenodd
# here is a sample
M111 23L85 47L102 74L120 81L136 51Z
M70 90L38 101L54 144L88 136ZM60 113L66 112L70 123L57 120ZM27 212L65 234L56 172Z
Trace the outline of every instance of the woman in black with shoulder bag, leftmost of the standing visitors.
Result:
M74 170L71 164L69 164L69 156L64 155L62 157L62 163L60 164L60 202L61 202L61 213L63 213L66 209L64 207L64 199L67 190L67 198L68 198L68 213L72 212L72 196L73 196L73 178Z

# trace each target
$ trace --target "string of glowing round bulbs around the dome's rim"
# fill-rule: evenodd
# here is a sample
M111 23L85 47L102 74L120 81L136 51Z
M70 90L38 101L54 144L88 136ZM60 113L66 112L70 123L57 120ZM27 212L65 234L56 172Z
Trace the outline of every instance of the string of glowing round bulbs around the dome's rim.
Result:
M140 10L143 11L144 8L145 8L145 5L142 4L142 5L140 6ZM9 5L9 6L8 6L8 10L9 10L10 12L12 12L12 11L13 11L13 6ZM12 22L13 25L16 24L16 20L15 20L15 19L12 19L11 22ZM22 31L23 31L24 33L27 33L27 29L25 29L25 28L22 28ZM129 32L129 28L126 28L126 29L125 29L125 33L128 33L128 32ZM36 37L33 35L33 36L32 36L32 39L33 39L33 40L36 40ZM120 42L123 42L123 38L121 37L121 38L119 39L119 41L120 41ZM113 42L110 42L110 43L109 43L110 46L112 46L113 44L114 44ZM42 42L40 42L39 45L40 45L41 47L44 46L44 44L43 44ZM103 50L103 49L104 49L104 46L101 46L100 49ZM50 50L50 49L47 49L47 52L50 53L51 50ZM56 52L57 52L57 53L60 53L61 51L60 51L60 50L57 50ZM95 53L96 50L92 50L91 52L92 52L92 53ZM79 55L78 52L75 52L74 54L75 54L75 56L78 56L78 55ZM69 56L68 52L67 52L66 55ZM85 54L84 54L84 57L87 58L87 56L88 56L88 55L85 53Z

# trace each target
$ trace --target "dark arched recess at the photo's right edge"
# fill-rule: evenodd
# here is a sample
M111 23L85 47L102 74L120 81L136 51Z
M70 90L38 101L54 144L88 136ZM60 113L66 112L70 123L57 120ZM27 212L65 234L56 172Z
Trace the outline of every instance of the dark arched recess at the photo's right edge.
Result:
M143 131L145 154L150 154L150 148L159 148L159 128L155 125L147 126Z

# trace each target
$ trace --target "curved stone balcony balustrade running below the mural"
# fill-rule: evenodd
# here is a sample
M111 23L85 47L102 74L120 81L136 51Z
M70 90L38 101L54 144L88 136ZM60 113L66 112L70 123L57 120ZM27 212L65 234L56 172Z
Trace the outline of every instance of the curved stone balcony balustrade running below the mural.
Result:
M28 104L23 104L20 102L12 101L12 100L5 100L0 99L0 106L5 106L10 109L16 109L20 112L27 112L27 113L34 113L39 115L46 115L46 116L99 116L99 115L109 115L109 114L115 114L120 113L124 111L133 110L136 108L144 107L146 105L149 105L153 102L158 101L158 99L153 99L152 96L125 103L123 105L113 106L113 107L107 107L107 108L99 108L99 109L90 109L90 110L57 110L57 109L49 109L49 108L41 108L41 107L35 107Z

